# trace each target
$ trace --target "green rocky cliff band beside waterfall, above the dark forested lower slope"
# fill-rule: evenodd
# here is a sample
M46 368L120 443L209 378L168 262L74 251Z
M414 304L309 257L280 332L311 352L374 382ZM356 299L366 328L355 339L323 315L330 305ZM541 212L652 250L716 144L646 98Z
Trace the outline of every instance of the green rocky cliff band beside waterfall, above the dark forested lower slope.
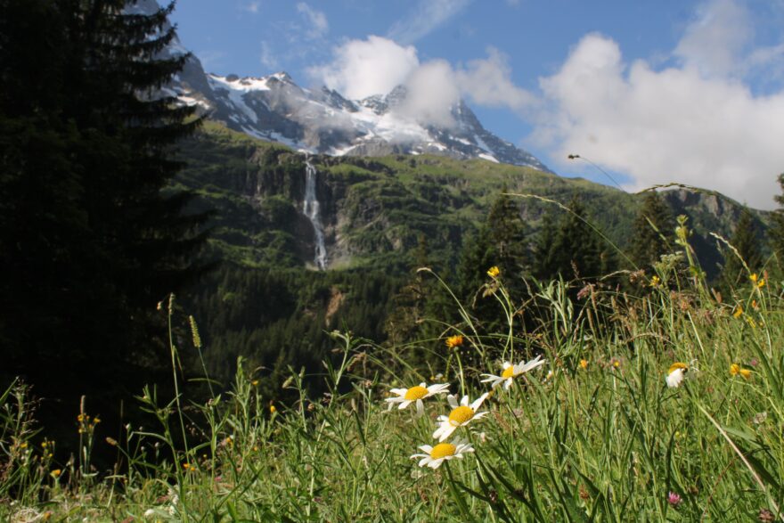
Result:
M641 204L639 196L605 185L483 160L306 157L216 123L185 143L183 153L190 165L181 183L200 193L205 207L216 208L216 247L249 266L317 267L305 206L306 162L316 169L314 197L329 269L404 270L422 234L435 256L456 259L463 237L477 230L503 187L520 195L514 200L532 239L552 204L529 195L566 203L579 194L593 223L621 249ZM717 194L663 195L675 215L690 217L698 256L715 274L721 255L708 233L731 237L740 205Z

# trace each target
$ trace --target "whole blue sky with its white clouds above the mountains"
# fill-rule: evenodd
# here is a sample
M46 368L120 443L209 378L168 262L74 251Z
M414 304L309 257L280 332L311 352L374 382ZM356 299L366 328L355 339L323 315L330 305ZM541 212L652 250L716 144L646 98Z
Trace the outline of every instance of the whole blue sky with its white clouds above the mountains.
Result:
M219 74L462 97L566 176L609 183L577 153L627 190L780 193L784 0L180 0L173 21Z

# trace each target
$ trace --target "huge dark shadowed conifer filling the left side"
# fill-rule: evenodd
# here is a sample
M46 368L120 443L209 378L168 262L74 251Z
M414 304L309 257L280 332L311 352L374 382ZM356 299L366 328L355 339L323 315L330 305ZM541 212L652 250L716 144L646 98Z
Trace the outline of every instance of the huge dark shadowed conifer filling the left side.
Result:
M200 272L205 217L168 189L200 121L157 95L185 60L159 58L173 6L0 1L2 372L108 415L164 361L156 303Z

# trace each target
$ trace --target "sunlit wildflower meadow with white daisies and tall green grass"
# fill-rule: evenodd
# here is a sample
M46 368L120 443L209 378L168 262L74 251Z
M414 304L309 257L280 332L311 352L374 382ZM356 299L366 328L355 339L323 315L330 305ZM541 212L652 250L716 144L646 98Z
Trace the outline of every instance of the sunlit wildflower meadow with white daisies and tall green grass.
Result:
M720 302L688 256L656 271L634 292L529 282L518 304L491 268L483 294L502 306L500 332L457 301L461 323L438 339L378 347L333 332L323 372L290 369L289 405L263 397L242 361L204 402L145 388L157 426L104 441L94 418L80 421L85 460L94 445L117 449L103 476L25 457L46 440L14 384L0 397L0 518L782 519L781 282L748 274ZM523 328L533 307L538 323Z

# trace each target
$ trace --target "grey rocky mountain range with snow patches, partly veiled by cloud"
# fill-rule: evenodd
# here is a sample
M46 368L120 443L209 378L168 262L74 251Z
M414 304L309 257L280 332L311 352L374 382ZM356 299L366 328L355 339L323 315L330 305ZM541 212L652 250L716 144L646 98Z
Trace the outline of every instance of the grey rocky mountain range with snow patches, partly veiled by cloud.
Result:
M157 6L156 0L140 0L131 9L154 12ZM163 54L184 53L175 40ZM529 152L487 131L465 102L453 105L448 125L421 122L405 110L404 86L347 100L326 87L300 87L285 72L261 78L208 74L192 55L164 93L199 105L229 128L299 151L333 156L429 153L549 171Z

